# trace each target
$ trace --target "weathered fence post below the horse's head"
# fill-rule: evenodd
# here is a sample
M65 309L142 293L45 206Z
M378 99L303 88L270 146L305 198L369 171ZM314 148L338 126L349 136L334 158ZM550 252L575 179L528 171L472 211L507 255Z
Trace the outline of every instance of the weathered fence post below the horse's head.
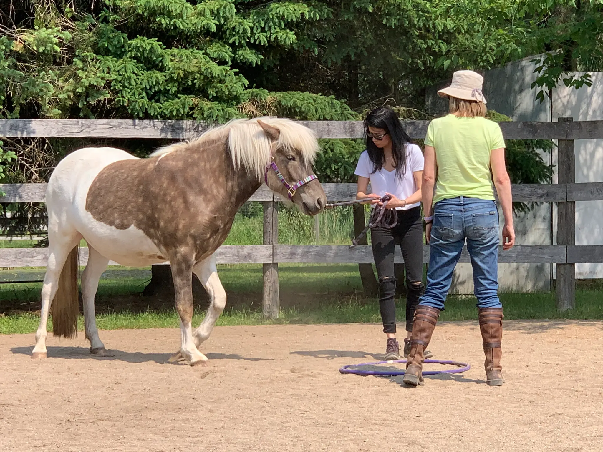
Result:
M276 201L262 202L264 207L264 245L279 243L279 211ZM273 252L274 256L274 252ZM279 318L279 264L262 265L264 289L262 291L262 313L269 319Z

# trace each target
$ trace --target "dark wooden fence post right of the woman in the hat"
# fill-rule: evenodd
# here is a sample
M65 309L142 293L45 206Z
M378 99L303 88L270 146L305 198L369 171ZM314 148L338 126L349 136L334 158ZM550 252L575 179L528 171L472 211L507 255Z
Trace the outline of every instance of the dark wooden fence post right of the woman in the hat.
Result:
M573 118L559 118L559 122L571 125ZM566 128L567 130L567 128ZM567 132L566 132L567 133ZM558 183L573 184L576 181L575 154L573 140L559 140ZM557 245L576 243L576 203L557 203ZM567 256L567 254L566 254ZM576 306L576 268L573 263L557 264L557 309L564 311Z

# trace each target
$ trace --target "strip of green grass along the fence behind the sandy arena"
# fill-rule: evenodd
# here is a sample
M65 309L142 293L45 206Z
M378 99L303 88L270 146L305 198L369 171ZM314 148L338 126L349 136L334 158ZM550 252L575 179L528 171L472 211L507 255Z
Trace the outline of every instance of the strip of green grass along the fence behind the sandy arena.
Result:
M270 321L262 318L262 269L257 265L221 265L218 269L229 294L229 306L218 320L218 325L262 324L320 324L350 322L380 322L379 304L374 298L362 296L358 267L355 265L282 265L279 269L280 318ZM109 305L99 310L98 327L102 330L119 328L175 328L178 317L167 304L164 309L128 310L111 307L115 297L131 297L144 287L144 279L101 280L97 304ZM503 293L506 319L603 319L603 285L585 284L576 290L576 309L558 312L554 293ZM13 299L24 304L38 303L40 283L2 284L0 300ZM121 300L121 298L118 298ZM475 297L450 295L443 321L475 320ZM399 322L404 320L404 301L398 303ZM195 310L194 323L203 319L203 312ZM32 333L39 322L39 314L14 310L0 315L0 334ZM49 322L50 329L51 322ZM80 318L83 330L83 318Z

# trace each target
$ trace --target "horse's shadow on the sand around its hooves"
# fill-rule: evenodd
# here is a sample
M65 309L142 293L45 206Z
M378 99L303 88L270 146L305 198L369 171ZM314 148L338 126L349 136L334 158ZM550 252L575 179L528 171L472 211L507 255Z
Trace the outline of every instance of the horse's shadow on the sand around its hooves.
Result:
M14 354L22 354L31 356L33 346L30 347L13 347L10 351ZM157 364L175 364L178 362L169 362L172 357L171 353L142 353L140 351L122 351L122 350L107 350L110 356L96 356L90 353L85 347L46 347L48 358L63 358L63 359L94 359L94 360L109 360L123 361L127 363L145 363L155 362ZM266 361L267 358L247 358L238 354L224 353L206 353L208 359L241 359L245 361Z

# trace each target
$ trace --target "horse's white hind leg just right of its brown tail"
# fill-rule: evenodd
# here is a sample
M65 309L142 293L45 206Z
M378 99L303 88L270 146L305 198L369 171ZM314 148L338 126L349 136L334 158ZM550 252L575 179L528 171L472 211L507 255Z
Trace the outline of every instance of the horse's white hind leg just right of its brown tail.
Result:
M96 313L94 310L94 297L98 289L98 280L107 268L109 259L102 256L88 245L88 263L81 274L81 296L84 301L84 330L86 339L90 341L90 353L98 356L107 356L105 345L98 337L96 328Z

